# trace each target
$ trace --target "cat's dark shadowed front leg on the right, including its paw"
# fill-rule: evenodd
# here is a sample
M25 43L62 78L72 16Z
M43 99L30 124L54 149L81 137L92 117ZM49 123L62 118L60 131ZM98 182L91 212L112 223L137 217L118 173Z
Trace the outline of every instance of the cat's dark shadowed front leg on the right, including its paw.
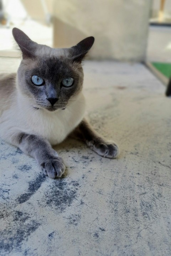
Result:
M114 142L106 141L102 138L90 124L83 119L71 134L74 138L79 138L102 157L116 158L119 155L119 148Z

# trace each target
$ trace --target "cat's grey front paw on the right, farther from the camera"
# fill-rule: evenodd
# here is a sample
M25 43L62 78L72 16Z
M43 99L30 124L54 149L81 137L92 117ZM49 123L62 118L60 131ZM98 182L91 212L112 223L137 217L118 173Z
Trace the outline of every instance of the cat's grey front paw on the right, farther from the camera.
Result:
M119 148L114 142L89 141L87 143L101 157L116 158L119 155Z

